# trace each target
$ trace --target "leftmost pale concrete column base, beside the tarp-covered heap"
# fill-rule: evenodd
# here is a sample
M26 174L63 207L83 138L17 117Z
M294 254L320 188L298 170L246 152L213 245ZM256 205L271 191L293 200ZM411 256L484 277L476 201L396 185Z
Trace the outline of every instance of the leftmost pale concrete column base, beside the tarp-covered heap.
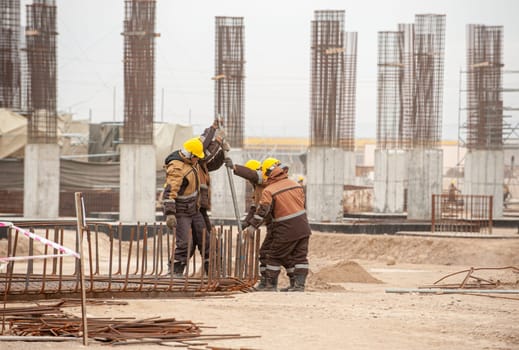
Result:
M59 216L59 145L27 144L24 160L23 216Z

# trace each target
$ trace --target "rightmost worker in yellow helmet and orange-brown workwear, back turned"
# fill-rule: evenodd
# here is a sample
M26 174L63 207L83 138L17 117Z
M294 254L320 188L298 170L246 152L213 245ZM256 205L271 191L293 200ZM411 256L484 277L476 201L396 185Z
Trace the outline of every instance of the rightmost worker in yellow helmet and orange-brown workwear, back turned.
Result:
M308 275L308 241L311 235L306 217L303 187L288 178L284 167L273 159L262 164L263 189L259 207L249 223L259 227L272 215L272 242L267 255L265 291L277 291L281 266L291 278L289 292L304 291Z

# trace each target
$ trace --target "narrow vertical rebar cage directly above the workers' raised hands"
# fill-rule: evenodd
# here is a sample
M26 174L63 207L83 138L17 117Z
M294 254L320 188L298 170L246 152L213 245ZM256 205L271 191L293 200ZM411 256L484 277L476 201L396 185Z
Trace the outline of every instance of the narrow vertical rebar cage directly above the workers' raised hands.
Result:
M243 147L245 37L243 17L215 17L215 113L231 147Z

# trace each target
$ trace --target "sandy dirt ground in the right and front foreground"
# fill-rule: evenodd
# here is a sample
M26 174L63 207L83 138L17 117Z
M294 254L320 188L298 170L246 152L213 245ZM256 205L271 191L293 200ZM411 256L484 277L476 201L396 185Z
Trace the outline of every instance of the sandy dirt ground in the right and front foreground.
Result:
M519 349L518 294L496 298L387 292L429 285L470 267L519 267L519 235L515 236L474 239L315 232L309 253L312 272L304 293L128 300L128 305L89 305L88 315L174 317L214 327L204 328L204 334L255 336L208 344L231 349ZM502 289L519 289L519 274L511 270L481 274L499 280ZM443 282L462 279L457 275ZM286 283L283 276L280 286ZM66 311L80 316L79 308ZM10 350L79 348L84 348L79 341L0 342L0 349ZM106 346L91 341L89 348Z

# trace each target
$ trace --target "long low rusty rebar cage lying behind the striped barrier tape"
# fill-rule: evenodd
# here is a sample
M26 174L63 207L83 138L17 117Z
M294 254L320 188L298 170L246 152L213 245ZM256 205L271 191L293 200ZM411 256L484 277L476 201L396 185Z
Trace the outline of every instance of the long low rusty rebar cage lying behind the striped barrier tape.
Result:
M54 235L54 241L62 246L74 247L78 244L76 234L66 229L70 227L67 223L31 222L25 227L36 231L41 237ZM193 255L190 259L193 264L188 262L190 268L182 278L173 277L167 269L175 247L175 231L156 223L132 228L129 240L121 232L120 224L106 223L89 223L83 232L86 238L83 257L85 289L89 297L135 297L149 293L167 297L245 292L257 281L259 230L253 235L243 235L242 247L248 249L238 251L231 249L238 235L224 234L222 228L215 228L209 235L207 275L202 272L203 259L199 263ZM27 240L24 236L19 238L18 231L8 230L8 257L33 256L45 249L43 246L33 246L29 241L27 251L25 245L19 242L21 239ZM7 270L0 273L0 295L13 300L42 296L77 297L80 291L77 263L56 255L55 249L45 249L43 253L49 254L49 259L9 261ZM222 266L223 262L226 269ZM150 269L149 266L154 268Z

